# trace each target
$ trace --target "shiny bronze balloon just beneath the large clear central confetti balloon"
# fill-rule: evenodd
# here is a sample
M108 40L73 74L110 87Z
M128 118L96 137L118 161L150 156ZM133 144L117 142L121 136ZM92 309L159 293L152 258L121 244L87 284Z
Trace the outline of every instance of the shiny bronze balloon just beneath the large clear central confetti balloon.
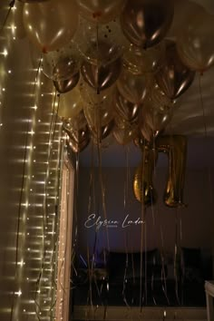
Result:
M83 80L92 88L102 91L116 82L122 70L122 60L118 58L107 65L97 65L84 61L81 66Z

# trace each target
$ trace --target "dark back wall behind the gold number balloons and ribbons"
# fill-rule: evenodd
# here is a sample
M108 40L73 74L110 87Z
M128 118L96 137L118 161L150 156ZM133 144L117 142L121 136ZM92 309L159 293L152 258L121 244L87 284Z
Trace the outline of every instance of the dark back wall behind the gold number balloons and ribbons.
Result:
M124 189L127 187L127 170L125 168L102 169L107 218L120 222L118 228L109 228L108 233L104 227L99 229L97 233L95 233L94 228L86 229L84 227L85 220L88 215L93 212L92 209L88 210L90 174L92 174L90 168L81 168L78 199L80 253L86 255L86 248L89 247L92 254L94 251L93 245L95 237L97 238L96 244L98 252L102 251L103 248L108 248L107 235L109 236L109 248L111 248L111 250L141 250L141 225L131 225L126 229L122 229L122 220L127 214L129 214L130 219L141 217L141 203L134 198L132 190L134 168L130 168L130 180L128 180L129 191L125 208ZM146 212L146 244L145 239L143 239L142 247L152 249L162 246L165 252L173 253L175 243L177 243L187 248L203 248L205 252L210 253L212 247L212 210L210 209L210 186L207 170L187 170L184 201L188 205L182 209L169 209L163 203L162 197L166 184L166 176L166 168L158 168L155 172L154 186L158 191L159 198L157 204ZM99 194L101 190L99 173L97 173L95 180L97 187L96 193ZM211 198L213 198L212 190L211 194ZM96 203L95 214L98 217L101 213L103 217L101 198L99 200L96 198ZM176 222L178 222L177 241Z

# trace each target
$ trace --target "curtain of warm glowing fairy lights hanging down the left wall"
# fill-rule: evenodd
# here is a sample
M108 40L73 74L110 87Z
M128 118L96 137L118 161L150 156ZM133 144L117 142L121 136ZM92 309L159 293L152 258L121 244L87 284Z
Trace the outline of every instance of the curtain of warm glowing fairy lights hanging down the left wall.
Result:
M13 54L13 42L18 41L13 15L15 10L13 4L0 37L0 67L3 71L0 73L0 133L4 128L2 111L7 108L5 98L9 94L7 81L15 73L7 63L8 57ZM8 7L5 6L7 14ZM62 233L66 229L66 219L63 218L63 223L60 223L64 146L62 122L57 116L60 96L42 73L41 57L36 63L37 67L29 70L34 81L26 82L29 88L25 94L29 102L27 116L19 120L24 145L17 147L23 151L23 159L19 160L22 163L22 178L12 262L15 275L11 276L14 278L14 290L5 308L11 321L24 316L28 320L55 319L57 277L63 277L64 273L66 249L63 236L59 237L60 224L63 224ZM65 184L67 186L67 179ZM67 188L66 195L69 195ZM62 251L58 253L60 246L63 246ZM63 291L63 285L59 291ZM58 306L63 319L63 299Z

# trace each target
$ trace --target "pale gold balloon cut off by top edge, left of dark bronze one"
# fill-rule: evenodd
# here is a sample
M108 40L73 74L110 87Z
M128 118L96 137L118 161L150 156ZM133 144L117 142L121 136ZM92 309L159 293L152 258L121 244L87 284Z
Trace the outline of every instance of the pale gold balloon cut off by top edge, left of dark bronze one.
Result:
M77 4L85 19L105 24L120 15L124 0L77 0Z

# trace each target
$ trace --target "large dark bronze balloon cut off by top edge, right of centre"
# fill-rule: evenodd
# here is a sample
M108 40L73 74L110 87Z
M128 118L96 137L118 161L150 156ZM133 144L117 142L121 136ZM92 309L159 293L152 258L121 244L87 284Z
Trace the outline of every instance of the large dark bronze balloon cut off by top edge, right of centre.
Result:
M172 0L128 0L122 10L122 31L138 47L149 48L170 29L174 12Z

